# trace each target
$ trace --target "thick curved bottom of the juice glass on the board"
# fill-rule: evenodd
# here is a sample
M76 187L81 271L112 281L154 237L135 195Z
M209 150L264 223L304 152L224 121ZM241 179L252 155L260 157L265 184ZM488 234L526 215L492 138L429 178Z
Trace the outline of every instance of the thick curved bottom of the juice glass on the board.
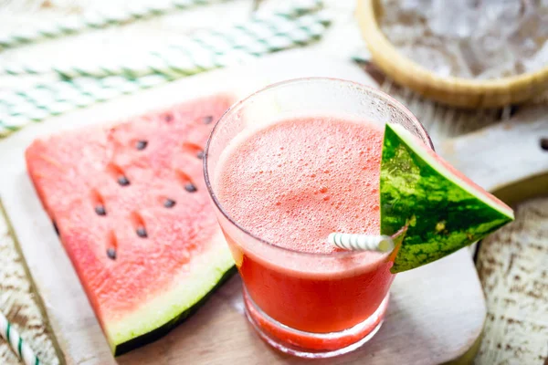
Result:
M258 308L244 287L244 304L249 322L274 349L306 359L325 359L360 348L381 328L388 308L389 294L374 314L353 328L331 333L311 333L290 328L270 318Z

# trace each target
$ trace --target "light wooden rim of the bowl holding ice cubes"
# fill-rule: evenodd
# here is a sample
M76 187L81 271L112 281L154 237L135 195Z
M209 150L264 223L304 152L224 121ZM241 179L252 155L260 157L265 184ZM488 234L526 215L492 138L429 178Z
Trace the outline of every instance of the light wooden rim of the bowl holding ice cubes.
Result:
M405 57L390 43L377 22L380 0L358 0L358 23L374 63L400 85L451 106L494 108L516 104L548 89L548 65L538 71L507 78L474 80L440 77Z

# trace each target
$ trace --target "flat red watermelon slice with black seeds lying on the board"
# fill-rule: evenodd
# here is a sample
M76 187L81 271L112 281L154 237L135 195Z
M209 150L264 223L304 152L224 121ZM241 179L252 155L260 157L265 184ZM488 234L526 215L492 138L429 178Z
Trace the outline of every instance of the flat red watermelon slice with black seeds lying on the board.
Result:
M233 272L205 188L232 98L37 140L27 169L115 355L158 338Z

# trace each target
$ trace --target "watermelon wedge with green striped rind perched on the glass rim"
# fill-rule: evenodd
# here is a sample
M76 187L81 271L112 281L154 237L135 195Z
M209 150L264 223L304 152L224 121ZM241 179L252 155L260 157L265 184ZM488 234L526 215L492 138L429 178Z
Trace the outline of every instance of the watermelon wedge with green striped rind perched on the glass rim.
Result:
M407 225L393 273L449 255L514 219L508 205L398 125L385 127L380 193L381 233Z

